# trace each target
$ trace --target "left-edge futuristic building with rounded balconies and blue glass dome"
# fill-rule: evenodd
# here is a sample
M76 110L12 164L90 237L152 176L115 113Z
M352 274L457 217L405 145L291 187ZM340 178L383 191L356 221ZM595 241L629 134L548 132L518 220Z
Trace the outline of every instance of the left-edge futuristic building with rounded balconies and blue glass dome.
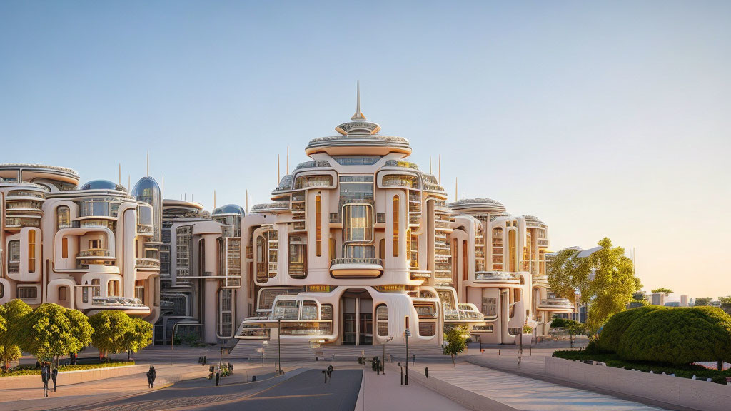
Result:
M86 314L118 309L156 321L159 206L137 188L78 184L64 167L0 165L0 303L20 298Z

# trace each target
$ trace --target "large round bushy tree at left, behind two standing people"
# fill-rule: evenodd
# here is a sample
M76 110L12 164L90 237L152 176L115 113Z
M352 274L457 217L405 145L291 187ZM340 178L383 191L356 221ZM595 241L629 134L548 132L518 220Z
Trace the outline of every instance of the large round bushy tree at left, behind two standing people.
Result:
M28 351L42 360L79 352L88 344L88 320L73 309L42 303L26 316L24 337Z

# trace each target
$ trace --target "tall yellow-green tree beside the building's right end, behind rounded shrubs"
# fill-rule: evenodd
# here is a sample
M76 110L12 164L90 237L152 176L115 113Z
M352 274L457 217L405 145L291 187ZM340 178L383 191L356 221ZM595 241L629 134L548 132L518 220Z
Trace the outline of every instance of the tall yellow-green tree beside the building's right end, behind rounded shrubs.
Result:
M561 250L548 267L554 293L574 301L578 290L580 302L588 306L586 325L592 333L612 314L623 311L642 287L623 248L613 246L609 238L598 244L601 248L588 257L577 257L577 249Z

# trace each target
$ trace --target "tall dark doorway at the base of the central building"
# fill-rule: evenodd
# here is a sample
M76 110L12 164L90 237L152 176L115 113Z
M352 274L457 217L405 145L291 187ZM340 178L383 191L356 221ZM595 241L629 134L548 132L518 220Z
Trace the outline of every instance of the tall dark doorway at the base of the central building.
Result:
M366 290L346 290L340 298L343 345L373 344L373 298Z

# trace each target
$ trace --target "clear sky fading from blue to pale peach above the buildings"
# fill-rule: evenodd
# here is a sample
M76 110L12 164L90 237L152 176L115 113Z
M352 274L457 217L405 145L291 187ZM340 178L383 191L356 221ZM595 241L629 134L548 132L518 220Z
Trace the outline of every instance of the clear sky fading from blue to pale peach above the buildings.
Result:
M731 294L731 1L2 1L0 162L268 200L355 110L454 196L608 236L646 289ZM282 170L284 173L284 170ZM678 295L679 295L678 293Z

